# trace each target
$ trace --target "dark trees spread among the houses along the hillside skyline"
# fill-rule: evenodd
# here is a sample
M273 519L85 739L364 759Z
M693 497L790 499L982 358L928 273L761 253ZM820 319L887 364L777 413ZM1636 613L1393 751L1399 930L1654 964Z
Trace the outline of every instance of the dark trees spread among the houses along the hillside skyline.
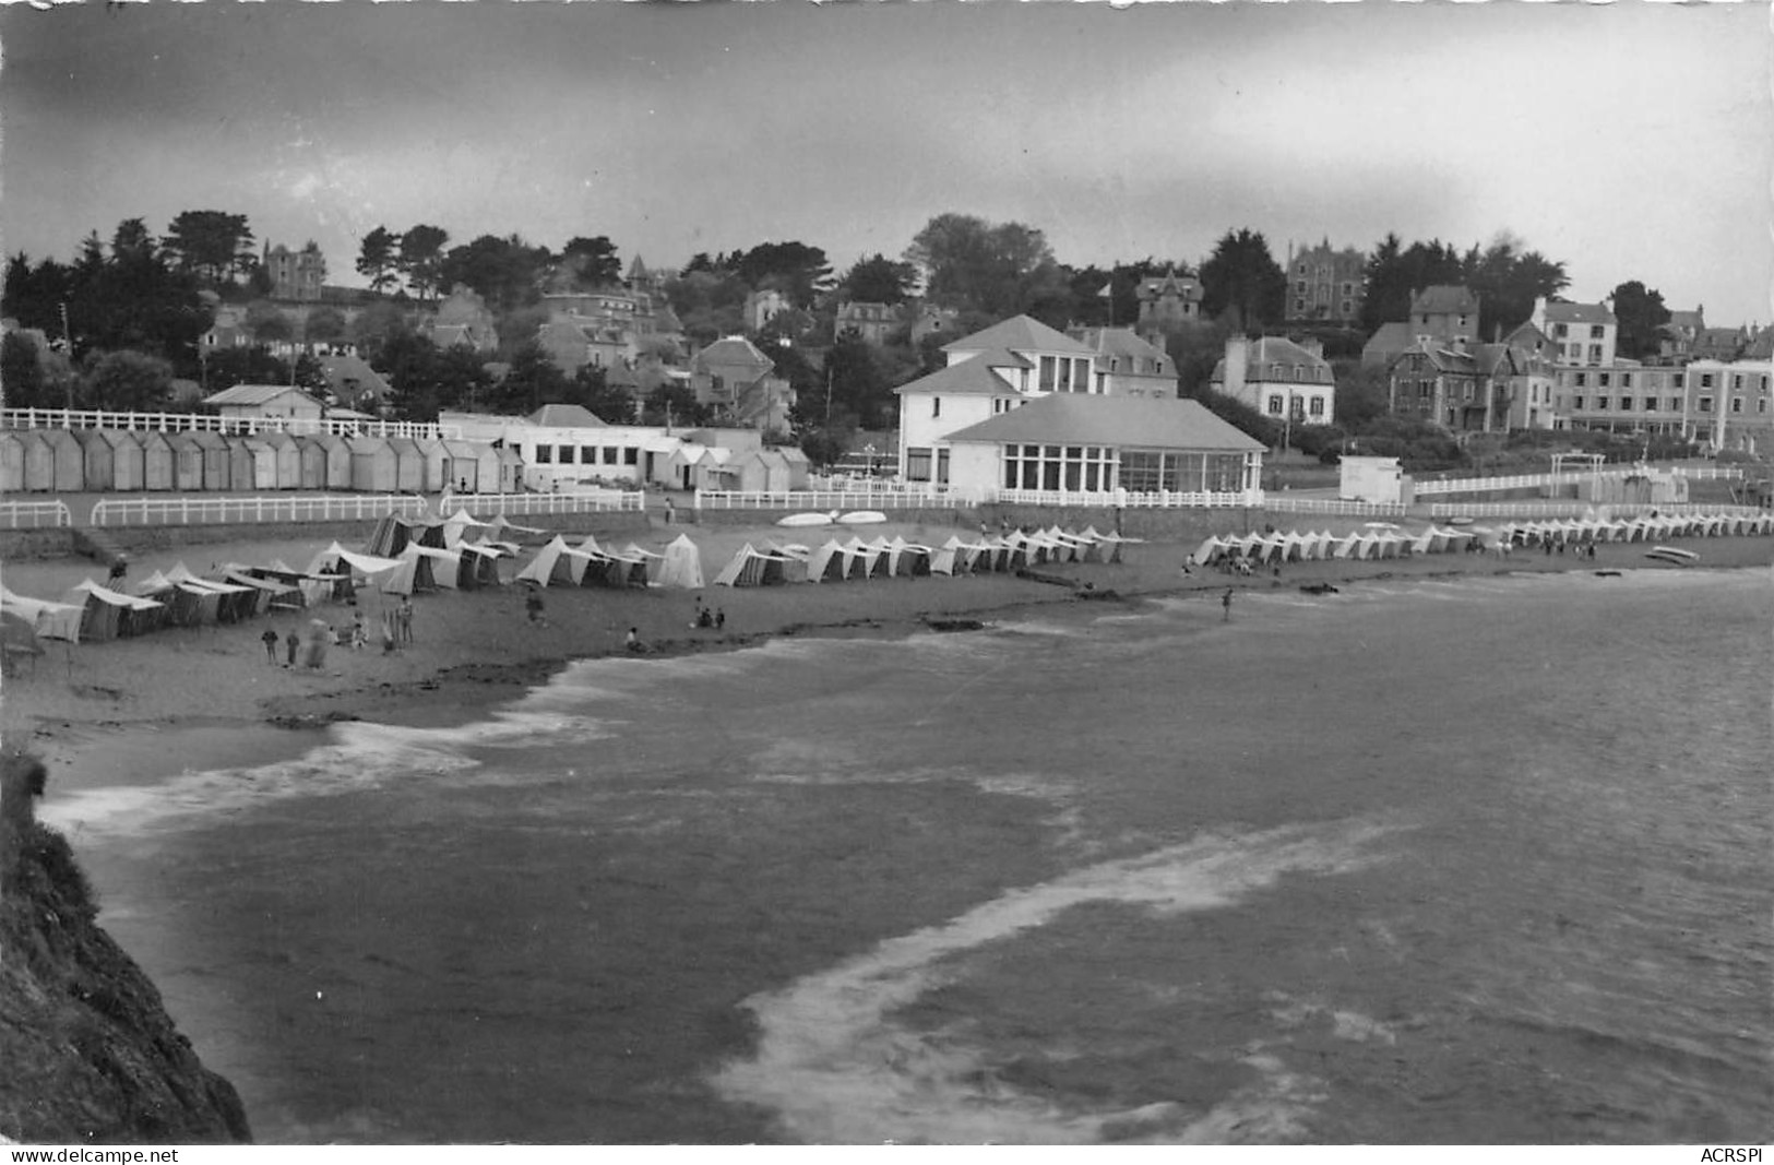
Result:
M429 418L445 408L527 411L564 401L612 418L706 418L679 387L662 385L635 401L612 388L601 369L569 374L538 346L548 319L545 294L621 285L623 262L608 236L577 236L559 252L518 234L449 241L449 232L431 223L376 227L355 261L371 284L367 303L353 307L349 323L339 307L310 305L300 328L263 298L268 278L245 215L184 211L158 239L144 220L124 220L108 245L96 231L89 234L73 262L11 255L0 310L51 337L59 351L27 351L32 346L23 337L7 337L0 353L7 403L154 408L165 403L174 376L200 379L208 392L243 381L319 390L323 378L312 358L271 349L351 344L390 381L396 415L406 418ZM898 420L894 388L942 367L947 337L1015 314L1054 328L1130 326L1139 316L1141 280L1167 271L1201 284L1201 321L1166 333L1180 394L1276 443L1268 418L1208 392L1228 335L1286 326L1288 275L1263 234L1249 227L1228 231L1199 262L1148 255L1077 268L1057 261L1036 227L944 213L930 218L901 255L864 255L841 273L820 246L766 241L692 255L681 270L660 275L658 291L692 348L749 335L797 390L795 434L836 447L852 429L891 429ZM1563 261L1510 234L1464 252L1440 239L1405 245L1387 234L1368 255L1362 330L1320 332L1338 372L1336 440L1382 424L1384 378L1362 371L1355 356L1366 333L1405 319L1410 294L1432 284L1472 287L1481 296L1481 337L1490 339L1524 321L1536 298L1556 298L1568 278ZM415 310L456 285L475 291L493 312L498 348L491 356L436 349L413 328ZM779 293L786 310L752 330L747 298L766 291ZM903 319L883 344L871 344L836 324L844 301L896 307L914 300L944 310L949 326L914 344L910 319ZM199 337L227 301L245 303L252 344L199 360ZM1620 353L1655 353L1659 326L1669 319L1662 296L1629 280L1616 287L1614 312ZM660 364L683 355L667 344L646 353ZM1306 443L1313 440L1304 434Z

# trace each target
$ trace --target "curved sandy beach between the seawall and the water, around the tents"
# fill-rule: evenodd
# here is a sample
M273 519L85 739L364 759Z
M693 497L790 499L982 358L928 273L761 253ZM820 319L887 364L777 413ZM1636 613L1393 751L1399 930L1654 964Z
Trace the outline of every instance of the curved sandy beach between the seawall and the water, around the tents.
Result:
M1332 528L1354 528L1350 520ZM1306 528L1306 527L1300 527ZM1315 523L1313 528L1318 528ZM635 541L660 550L679 532L688 532L703 553L704 575L711 580L742 543L788 541L791 534L770 525L743 527L667 527L656 523ZM908 541L940 544L951 534L969 536L954 527L887 523L871 527L887 537L903 534ZM577 539L575 539L577 541ZM270 562L282 559L303 564L325 541L202 544L161 553L144 553L133 562L131 576L144 578L156 569L186 562L199 575L222 562ZM1501 559L1480 553L1439 553L1387 560L1329 560L1288 564L1279 575L1249 578L1219 571L1185 575L1180 566L1192 546L1148 541L1125 548L1119 564L1064 564L1043 567L1043 575L1091 583L1095 590L1112 590L1109 601L1141 601L1157 596L1201 594L1217 603L1226 589L1302 587L1378 578L1440 576L1471 573L1543 573L1543 571L1621 571L1621 569L1707 569L1769 566L1774 539L1715 537L1678 539L1699 555L1694 567L1673 567L1644 557L1644 546L1602 544L1597 559L1543 555L1538 550ZM518 562L529 559L525 548ZM514 567L506 566L506 575ZM83 578L103 580L103 571L85 559L18 562L5 566L5 585L34 598L60 598ZM891 578L823 585L782 585L688 590L605 590L550 587L545 592L545 622L525 615L525 587L486 590L440 590L415 598L413 644L394 654L373 645L364 651L332 649L323 670L286 669L266 660L259 640L266 628L279 635L305 629L312 619L325 619L344 629L353 608L321 605L318 608L252 619L234 626L200 629L169 628L138 638L69 645L48 640L48 654L5 679L0 690L0 741L7 748L28 748L43 755L51 773L75 777L76 757L92 757L115 780L126 770L158 770L174 759L156 757L140 748L142 738L167 727L215 727L220 759L264 748L263 734L229 745L220 729L279 725L316 727L332 720L380 720L394 723L444 723L463 708L514 697L539 683L569 660L596 658L624 651L624 638L635 628L653 658L729 651L782 635L901 635L919 629L930 619L1008 617L1018 608L1047 603L1077 603L1077 592L1013 575ZM722 629L694 624L697 601L726 612ZM362 608L371 628L380 626L387 596L365 592ZM1233 606L1236 614L1236 603ZM282 658L282 649L279 651ZM293 747L298 747L293 741ZM183 768L218 757L179 757ZM75 777L85 782L85 775Z

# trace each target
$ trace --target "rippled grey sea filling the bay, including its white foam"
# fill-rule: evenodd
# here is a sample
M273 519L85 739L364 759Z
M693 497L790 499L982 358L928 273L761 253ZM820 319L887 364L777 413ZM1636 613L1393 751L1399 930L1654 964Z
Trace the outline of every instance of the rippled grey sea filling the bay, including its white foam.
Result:
M266 1142L1765 1140L1767 599L598 660L46 816Z

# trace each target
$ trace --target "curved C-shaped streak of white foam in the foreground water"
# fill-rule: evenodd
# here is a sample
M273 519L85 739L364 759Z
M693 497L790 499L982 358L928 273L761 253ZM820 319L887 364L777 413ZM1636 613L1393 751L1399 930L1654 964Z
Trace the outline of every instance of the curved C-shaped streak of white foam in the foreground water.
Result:
M1102 1140L1286 1140L1320 1098L1315 1082L1272 1055L1245 1050L1258 1082L1201 1112L1181 1103L1126 1112L1066 1114L983 1071L983 1053L891 1018L933 986L951 956L1043 926L1080 903L1130 903L1160 911L1231 906L1286 872L1334 874L1370 865L1368 846L1391 828L1346 823L1205 837L1105 862L1011 890L942 926L882 942L875 950L789 988L756 995L759 1041L715 1087L733 1101L773 1110L812 1144L914 1140L931 1144L1089 1144Z

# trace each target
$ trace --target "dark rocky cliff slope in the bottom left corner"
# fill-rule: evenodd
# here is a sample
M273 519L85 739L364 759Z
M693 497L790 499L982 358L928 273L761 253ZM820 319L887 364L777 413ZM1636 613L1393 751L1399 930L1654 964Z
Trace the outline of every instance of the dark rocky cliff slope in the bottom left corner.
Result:
M252 1138L160 991L94 917L67 841L32 812L32 757L0 759L0 1138L227 1144Z

